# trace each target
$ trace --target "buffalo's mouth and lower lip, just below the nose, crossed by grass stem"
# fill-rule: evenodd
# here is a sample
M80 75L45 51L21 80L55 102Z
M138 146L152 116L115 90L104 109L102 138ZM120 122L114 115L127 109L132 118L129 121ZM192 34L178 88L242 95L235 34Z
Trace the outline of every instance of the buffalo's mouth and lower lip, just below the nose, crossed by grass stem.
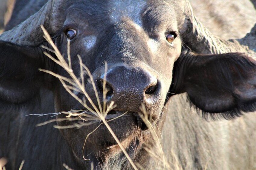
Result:
M93 113L89 112L86 114L95 116ZM147 126L138 113L111 110L107 113L105 120L120 142L129 138L132 134L138 134L147 129ZM97 128L97 130L88 137L88 142L104 148L117 144L101 119L90 120L90 122L90 125L80 128L85 137Z

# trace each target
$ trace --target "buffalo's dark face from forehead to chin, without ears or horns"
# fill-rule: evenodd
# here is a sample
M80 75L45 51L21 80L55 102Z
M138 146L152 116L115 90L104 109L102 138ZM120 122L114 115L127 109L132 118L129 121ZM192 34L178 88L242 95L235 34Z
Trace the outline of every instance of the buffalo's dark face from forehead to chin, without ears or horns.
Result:
M174 61L181 54L177 21L170 19L172 22L166 23L165 18L153 18L153 11L149 12L152 9L147 9L146 6L138 9L133 4L130 6L123 4L120 9L133 8L134 11L132 14L120 15L118 13L121 12L120 9L115 9L119 18L113 19L112 15L117 15L114 14L115 12L107 14L98 12L97 15L90 15L93 11L89 11L87 5L79 4L79 7L75 5L66 12L61 34L54 39L60 52L65 54L66 59L68 58L67 41L70 39L72 69L79 77L80 65L77 57L79 54L93 76L102 108L105 77L108 89L105 101L107 104L114 101L116 105L106 119L109 120L126 113L109 122L110 127L121 141L134 137L134 134L148 133L146 125L140 118L141 107L145 106L149 117L157 124L162 117L162 110L171 85ZM101 5L95 10L100 11ZM172 16L171 18L177 18L175 15L174 13L168 14ZM153 28L147 23L149 20L159 23L159 26ZM105 62L108 68L106 73ZM57 72L68 76L61 69ZM94 105L98 107L93 85L88 82L88 79L86 75L84 77L85 90ZM57 112L84 109L61 85L57 87L55 90ZM82 93L75 93L81 99L84 97L87 100ZM93 108L88 100L87 105ZM66 122L58 124L68 125ZM86 136L97 126L98 122L78 130L62 130L62 133L75 148L82 146L84 139L77 144L78 141L73 140L72 134L81 133L81 136ZM116 144L114 138L106 127L101 126L91 134L85 147L93 146L94 153L97 153L113 144ZM81 150L81 148L78 149Z

